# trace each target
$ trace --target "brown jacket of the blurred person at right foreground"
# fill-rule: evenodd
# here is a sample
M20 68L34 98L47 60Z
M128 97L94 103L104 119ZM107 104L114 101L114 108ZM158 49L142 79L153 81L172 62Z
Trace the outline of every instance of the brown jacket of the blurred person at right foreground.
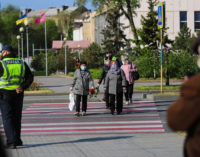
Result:
M186 131L185 156L200 156L200 74L181 87L180 98L168 109L168 125L175 131Z

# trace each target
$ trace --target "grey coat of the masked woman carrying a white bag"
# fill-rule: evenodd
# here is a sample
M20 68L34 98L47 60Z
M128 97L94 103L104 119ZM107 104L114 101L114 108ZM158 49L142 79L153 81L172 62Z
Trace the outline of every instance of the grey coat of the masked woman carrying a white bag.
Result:
M92 80L90 72L88 70L76 70L74 73L74 80L72 83L74 93L78 95L89 95L89 86L94 87L94 82Z

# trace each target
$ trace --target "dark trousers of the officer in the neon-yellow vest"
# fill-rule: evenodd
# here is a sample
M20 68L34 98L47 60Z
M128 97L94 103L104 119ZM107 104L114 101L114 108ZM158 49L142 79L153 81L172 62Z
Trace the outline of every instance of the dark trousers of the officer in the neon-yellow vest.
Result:
M23 98L23 94L1 95L0 108L7 137L7 144L18 143L21 141Z

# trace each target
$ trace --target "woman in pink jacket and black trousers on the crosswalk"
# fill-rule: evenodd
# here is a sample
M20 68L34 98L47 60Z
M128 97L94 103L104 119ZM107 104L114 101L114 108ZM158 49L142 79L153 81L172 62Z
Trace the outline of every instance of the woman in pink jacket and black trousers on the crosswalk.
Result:
M129 63L128 57L124 57L124 64L121 66L121 69L124 71L126 76L126 105L132 104L132 97L133 97L133 87L135 80L133 79L132 72L137 72L138 68L135 64Z

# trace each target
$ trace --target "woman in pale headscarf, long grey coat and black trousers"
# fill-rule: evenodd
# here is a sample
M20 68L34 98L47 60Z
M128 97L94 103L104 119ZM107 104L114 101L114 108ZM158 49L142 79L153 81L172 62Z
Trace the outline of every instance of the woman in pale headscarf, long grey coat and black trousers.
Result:
M116 61L111 62L111 68L106 76L104 88L108 89L111 114L115 112L115 99L117 99L117 114L123 109L123 90L126 87L124 72L116 65ZM117 98L116 98L117 97Z

